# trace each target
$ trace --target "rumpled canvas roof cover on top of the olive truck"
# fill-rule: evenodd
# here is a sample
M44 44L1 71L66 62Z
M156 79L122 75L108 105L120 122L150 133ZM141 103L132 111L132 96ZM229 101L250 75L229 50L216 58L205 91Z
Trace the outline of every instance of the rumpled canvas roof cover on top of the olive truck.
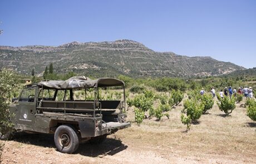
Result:
M71 88L124 86L124 82L116 78L90 79L85 76L74 76L65 81L61 81L61 80L41 81L37 85L43 86L43 88L71 89Z

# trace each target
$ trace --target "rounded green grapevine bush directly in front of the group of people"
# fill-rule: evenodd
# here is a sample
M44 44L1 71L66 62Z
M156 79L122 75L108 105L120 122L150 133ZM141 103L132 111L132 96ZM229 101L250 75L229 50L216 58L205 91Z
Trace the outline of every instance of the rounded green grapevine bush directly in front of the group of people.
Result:
M228 96L224 96L223 98L219 98L219 102L217 103L220 111L223 111L226 116L228 116L235 109L235 98L231 99Z

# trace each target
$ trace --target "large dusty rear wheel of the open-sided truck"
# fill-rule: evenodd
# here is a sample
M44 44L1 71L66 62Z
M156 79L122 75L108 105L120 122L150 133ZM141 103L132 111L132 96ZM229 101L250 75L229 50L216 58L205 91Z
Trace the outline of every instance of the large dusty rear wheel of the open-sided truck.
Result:
M54 142L58 151L63 153L73 153L79 146L79 138L75 128L61 125L54 134Z

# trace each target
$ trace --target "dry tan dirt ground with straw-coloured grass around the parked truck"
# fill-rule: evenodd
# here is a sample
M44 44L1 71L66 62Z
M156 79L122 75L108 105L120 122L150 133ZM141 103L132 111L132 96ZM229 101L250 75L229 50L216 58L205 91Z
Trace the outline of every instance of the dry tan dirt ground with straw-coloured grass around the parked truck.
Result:
M2 163L255 163L256 123L240 104L224 117L214 105L197 125L180 121L183 107L170 118L145 120L120 130L100 145L84 143L73 155L56 151L52 135L28 134L1 141ZM128 119L134 120L132 109ZM0 149L1 151L1 149Z

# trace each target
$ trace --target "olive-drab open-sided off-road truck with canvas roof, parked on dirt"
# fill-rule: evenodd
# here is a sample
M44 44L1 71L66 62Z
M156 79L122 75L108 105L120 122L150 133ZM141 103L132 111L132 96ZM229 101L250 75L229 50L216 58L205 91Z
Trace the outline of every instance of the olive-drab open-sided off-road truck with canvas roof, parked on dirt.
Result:
M121 100L101 100L99 90L107 87L121 87ZM63 153L75 152L83 142L102 142L107 135L130 127L125 121L125 84L115 78L76 76L27 85L9 111L15 114L15 131L52 133L57 150Z

